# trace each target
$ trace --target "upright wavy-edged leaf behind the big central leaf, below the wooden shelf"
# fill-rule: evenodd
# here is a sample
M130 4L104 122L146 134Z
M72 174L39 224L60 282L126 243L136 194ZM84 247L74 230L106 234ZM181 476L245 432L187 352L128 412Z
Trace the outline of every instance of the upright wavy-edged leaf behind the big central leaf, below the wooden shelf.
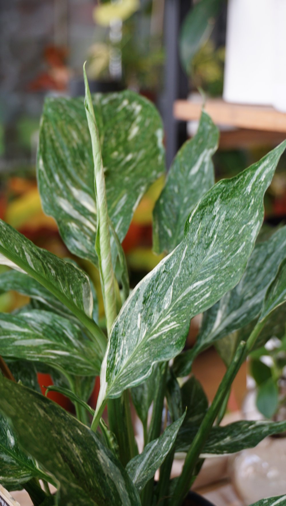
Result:
M185 221L198 200L214 185L212 155L219 132L206 112L199 130L178 151L153 213L153 245L157 253L172 251L183 239Z

